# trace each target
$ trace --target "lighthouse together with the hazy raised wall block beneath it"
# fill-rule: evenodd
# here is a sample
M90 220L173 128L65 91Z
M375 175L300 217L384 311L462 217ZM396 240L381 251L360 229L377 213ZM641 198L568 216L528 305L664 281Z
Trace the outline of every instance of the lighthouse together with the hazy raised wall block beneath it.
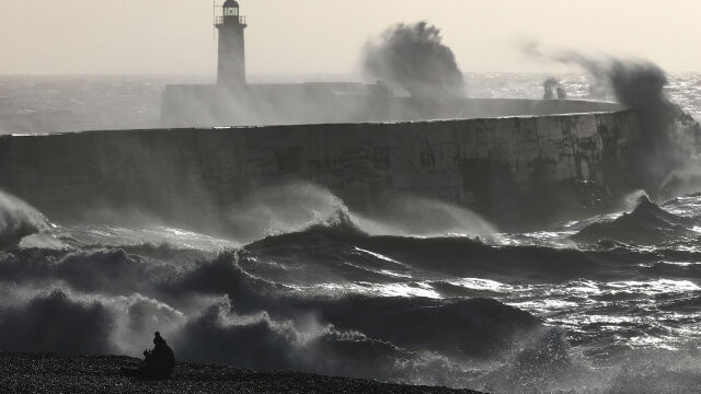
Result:
M161 104L163 127L382 121L392 115L394 97L382 85L249 83L244 42L248 25L240 1L214 0L214 25L219 33L217 83L166 85ZM400 113L403 109L398 109ZM280 163L301 169L296 152L281 152Z

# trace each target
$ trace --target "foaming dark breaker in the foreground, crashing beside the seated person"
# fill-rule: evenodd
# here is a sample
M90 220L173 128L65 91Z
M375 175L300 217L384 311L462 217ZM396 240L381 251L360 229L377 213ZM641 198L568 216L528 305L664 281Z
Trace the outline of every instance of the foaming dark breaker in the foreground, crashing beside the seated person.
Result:
M159 327L182 360L459 385L457 360L501 357L542 326L493 299L309 296L234 252L186 270L111 248L1 258L1 349L128 352Z

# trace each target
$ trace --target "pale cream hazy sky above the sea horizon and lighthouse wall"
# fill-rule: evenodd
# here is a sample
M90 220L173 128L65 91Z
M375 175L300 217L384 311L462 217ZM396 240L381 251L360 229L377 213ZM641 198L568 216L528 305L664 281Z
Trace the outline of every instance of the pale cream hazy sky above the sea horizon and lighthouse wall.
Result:
M218 0L219 3L222 0ZM556 71L519 43L701 70L699 0L240 0L250 73L349 73L397 22L443 30L463 71ZM0 0L0 73L215 72L210 0Z

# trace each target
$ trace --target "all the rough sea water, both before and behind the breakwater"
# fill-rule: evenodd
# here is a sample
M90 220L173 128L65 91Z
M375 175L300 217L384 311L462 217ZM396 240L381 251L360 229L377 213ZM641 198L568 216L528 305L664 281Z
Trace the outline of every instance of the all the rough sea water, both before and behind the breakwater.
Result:
M538 97L542 79L470 76L468 88ZM697 116L699 79L671 76L668 90ZM20 80L0 79L3 127L19 108L73 115L5 132L148 127L164 83L99 79L112 86L100 94L124 97L82 101L65 93L82 80ZM122 112L139 102L141 115ZM158 329L179 359L243 368L493 393L701 392L701 195L634 194L619 211L503 232L425 199L375 218L314 185L267 192L221 212L250 230L228 235L104 220L119 212L56 223L0 193L0 349L139 356ZM416 220L437 211L452 220Z

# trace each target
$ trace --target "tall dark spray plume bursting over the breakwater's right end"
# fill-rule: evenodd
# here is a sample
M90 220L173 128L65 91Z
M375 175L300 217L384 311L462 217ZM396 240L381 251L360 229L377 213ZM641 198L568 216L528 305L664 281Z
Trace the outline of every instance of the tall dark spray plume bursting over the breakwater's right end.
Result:
M629 186L656 194L670 174L698 160L701 126L667 97L667 76L657 65L573 50L543 51L536 43L522 50L528 56L581 67L595 85L610 86L619 102L637 112L641 135L633 146L633 184Z

